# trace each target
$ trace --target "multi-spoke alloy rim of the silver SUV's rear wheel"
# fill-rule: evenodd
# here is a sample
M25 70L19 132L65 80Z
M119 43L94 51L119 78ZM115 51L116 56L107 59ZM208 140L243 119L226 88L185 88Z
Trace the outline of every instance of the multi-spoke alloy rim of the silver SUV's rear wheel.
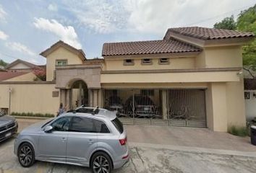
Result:
M93 161L93 172L108 173L109 164L105 156L97 156Z

